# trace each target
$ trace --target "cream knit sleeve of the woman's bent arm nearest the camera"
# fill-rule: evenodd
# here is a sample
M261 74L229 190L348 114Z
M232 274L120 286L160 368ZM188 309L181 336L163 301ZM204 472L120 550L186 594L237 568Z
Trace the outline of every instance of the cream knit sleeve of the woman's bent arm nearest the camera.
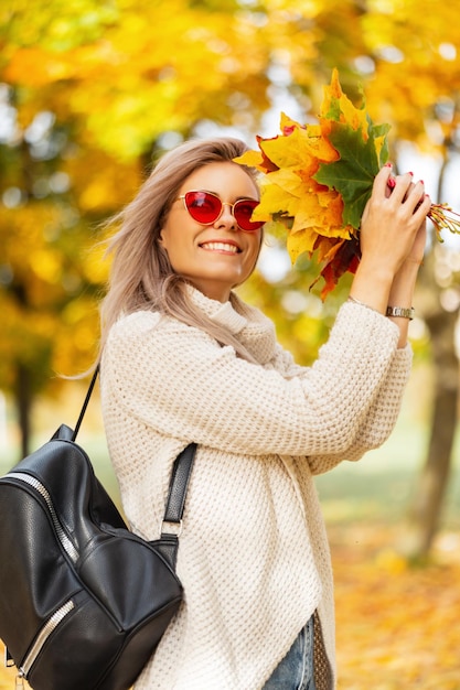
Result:
M199 328L138 312L113 327L103 376L117 405L160 433L234 453L315 456L318 472L321 457L361 449L392 406L397 339L389 320L346 303L314 365L286 378Z

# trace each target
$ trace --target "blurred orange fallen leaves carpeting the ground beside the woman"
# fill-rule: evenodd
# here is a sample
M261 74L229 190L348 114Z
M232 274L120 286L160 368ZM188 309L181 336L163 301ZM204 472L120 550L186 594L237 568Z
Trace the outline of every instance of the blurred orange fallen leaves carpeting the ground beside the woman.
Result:
M329 528L338 690L460 690L460 535L441 535L432 562L414 568L394 550L397 531ZM14 677L0 668L0 690Z

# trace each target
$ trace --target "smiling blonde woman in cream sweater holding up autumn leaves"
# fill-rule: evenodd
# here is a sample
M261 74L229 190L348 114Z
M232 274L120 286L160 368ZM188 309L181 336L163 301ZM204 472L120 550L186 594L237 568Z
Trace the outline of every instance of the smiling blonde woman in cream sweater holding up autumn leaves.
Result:
M387 439L410 368L422 183L397 176L389 194L391 168L376 176L350 300L318 360L300 367L233 291L263 241L250 220L256 177L233 162L245 149L218 139L169 152L111 245L103 410L124 509L142 537L159 538L173 460L199 444L176 568L184 602L137 690L335 687L312 476ZM387 316L388 305L403 311Z

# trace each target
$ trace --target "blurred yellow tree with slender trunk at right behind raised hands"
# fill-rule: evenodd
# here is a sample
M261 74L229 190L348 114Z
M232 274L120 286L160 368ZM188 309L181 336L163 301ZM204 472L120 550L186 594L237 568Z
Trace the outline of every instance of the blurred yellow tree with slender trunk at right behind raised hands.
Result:
M425 2L421 12L415 0L317 2L309 6L309 13L297 13L299 6L289 7L291 13L280 19L287 21L285 30L279 23L271 29L282 34L280 60L290 75L285 80L300 105L307 109L313 103L311 110L318 112L322 94L312 85L327 83L330 68L340 65L345 91L360 103L361 83L374 121L392 125L391 155L396 168L408 144L430 154L434 166L440 169L438 184L430 190L434 201L449 201L459 209L459 195L446 200L442 184L460 145L460 55L452 7L434 0ZM303 33L306 22L311 42ZM435 371L427 459L408 511L408 551L415 557L429 552L439 526L458 424L456 257L458 252L439 248L432 238L417 297L418 312L430 333Z

